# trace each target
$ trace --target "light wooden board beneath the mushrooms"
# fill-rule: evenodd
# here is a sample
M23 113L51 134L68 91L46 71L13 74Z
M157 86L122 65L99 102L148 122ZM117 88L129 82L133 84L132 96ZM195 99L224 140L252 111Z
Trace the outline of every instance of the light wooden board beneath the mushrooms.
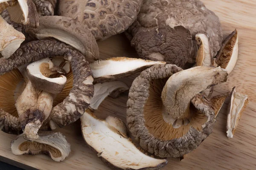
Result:
M235 28L239 32L239 59L227 83L215 88L214 94L230 91L236 86L237 92L250 98L248 107L241 117L233 139L226 136L227 101L218 115L213 133L183 161L169 159L164 170L220 170L256 169L256 0L203 0L207 8L220 18L224 36ZM126 56L136 57L123 34L99 42L101 58ZM135 77L135 76L134 76ZM131 85L132 79L122 79ZM118 99L106 99L96 112L101 118L107 115L125 120L127 94ZM79 121L60 129L70 142L72 152L63 162L54 162L46 155L15 156L10 142L15 135L0 132L0 160L26 169L42 170L108 170L108 167L84 143ZM0 168L1 169L1 168Z

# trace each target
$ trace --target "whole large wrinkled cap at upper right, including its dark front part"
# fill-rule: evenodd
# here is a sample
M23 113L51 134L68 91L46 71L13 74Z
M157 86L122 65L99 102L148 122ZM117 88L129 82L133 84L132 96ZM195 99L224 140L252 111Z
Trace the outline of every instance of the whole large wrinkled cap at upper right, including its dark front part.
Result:
M180 67L195 61L196 34L208 34L211 56L222 41L218 17L199 0L145 0L126 33L141 58Z

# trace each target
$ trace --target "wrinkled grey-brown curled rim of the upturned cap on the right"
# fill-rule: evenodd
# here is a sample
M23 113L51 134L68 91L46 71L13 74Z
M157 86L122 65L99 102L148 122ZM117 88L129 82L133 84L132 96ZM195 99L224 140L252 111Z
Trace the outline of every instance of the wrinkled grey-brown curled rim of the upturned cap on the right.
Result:
M171 140L161 140L149 133L145 126L143 112L149 96L148 89L150 87L150 81L153 79L170 77L172 74L181 70L182 69L176 65L154 65L143 71L140 76L134 80L129 92L129 99L127 102L127 123L129 130L144 150L162 158L180 157L197 148L211 133L212 125L215 122L214 111L210 108L207 102L203 101L204 105L202 102L197 102L199 99L201 101L206 97L194 97L192 99L192 104L208 117L207 122L202 125L201 130L196 130L194 127L190 127L185 135Z

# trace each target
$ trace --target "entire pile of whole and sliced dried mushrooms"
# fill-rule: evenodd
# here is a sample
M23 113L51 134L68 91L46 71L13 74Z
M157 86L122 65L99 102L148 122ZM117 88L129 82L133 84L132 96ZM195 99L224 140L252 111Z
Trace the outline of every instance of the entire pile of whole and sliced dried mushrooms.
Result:
M233 137L248 96L212 91L236 65L238 31L223 40L219 18L200 0L0 0L0 13L0 128L18 135L15 155L63 161L70 144L49 130L81 118L84 141L109 167L159 170L212 133L228 96ZM122 32L139 59L102 60L97 40ZM139 72L131 88L120 81ZM121 119L94 113L124 91L140 147Z

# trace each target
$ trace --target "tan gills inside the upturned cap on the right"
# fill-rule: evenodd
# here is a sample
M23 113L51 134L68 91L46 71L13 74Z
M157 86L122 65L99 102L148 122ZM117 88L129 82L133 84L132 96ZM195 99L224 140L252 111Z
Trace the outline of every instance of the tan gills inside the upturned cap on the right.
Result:
M151 81L148 100L144 107L145 125L149 133L164 141L182 137L189 131L191 126L197 130L201 130L202 125L207 122L207 116L196 111L195 108L192 111L191 122L186 126L173 128L172 124L164 121L162 115L164 106L161 100L161 94L167 80L168 78L154 79Z

